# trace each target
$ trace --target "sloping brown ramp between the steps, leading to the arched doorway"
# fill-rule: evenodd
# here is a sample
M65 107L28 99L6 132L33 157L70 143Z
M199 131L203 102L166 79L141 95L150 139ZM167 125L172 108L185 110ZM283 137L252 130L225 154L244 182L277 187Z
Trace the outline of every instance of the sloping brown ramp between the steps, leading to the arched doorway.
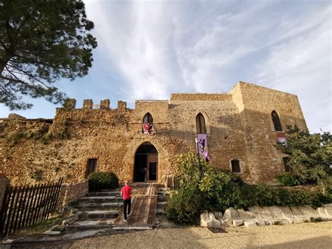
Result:
M113 229L152 229L157 210L158 184L137 184L133 186L131 215L123 221L121 209Z

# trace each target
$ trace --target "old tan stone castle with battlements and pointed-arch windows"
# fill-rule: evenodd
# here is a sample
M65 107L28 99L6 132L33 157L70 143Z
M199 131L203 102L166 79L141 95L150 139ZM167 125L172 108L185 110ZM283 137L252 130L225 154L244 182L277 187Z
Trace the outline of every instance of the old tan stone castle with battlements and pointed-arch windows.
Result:
M120 180L171 186L177 158L205 150L209 162L246 182L270 182L287 168L275 147L286 126L307 130L298 97L239 82L229 93L173 93L170 100L137 100L134 109L102 100L57 108L54 119L0 119L0 173L12 184L64 177L83 180L113 171ZM203 148L204 147L204 148ZM205 154L204 154L205 153Z

